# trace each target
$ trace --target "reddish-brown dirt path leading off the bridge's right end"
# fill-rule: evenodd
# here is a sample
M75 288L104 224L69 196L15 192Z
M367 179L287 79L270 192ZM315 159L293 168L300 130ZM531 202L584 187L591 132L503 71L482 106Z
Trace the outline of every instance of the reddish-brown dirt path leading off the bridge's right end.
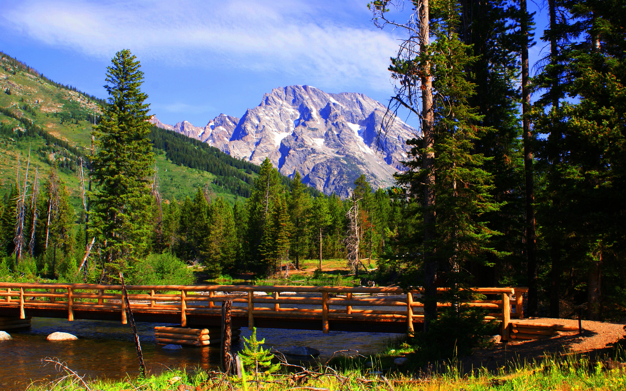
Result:
M578 320L570 319L532 318L516 322L558 323L578 327ZM558 332L559 335L541 340L499 343L493 350L477 350L461 362L466 370L478 367L496 370L514 362L541 360L546 355L586 353L593 356L607 353L613 343L626 337L626 322L583 320L582 327L582 335L577 331Z

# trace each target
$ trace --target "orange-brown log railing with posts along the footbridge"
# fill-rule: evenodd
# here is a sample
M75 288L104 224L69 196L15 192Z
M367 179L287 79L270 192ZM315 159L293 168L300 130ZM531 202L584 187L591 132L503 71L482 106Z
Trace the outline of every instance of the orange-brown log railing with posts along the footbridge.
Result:
M294 317L321 320L321 329L329 332L334 320L406 321L408 332L414 322L423 322L421 290L409 292L398 287L294 287L261 285L126 285L133 311L180 312L180 324L187 326L187 315L200 313L220 315L222 300L232 300L233 317L248 318L249 328L254 318ZM438 288L444 293L446 288ZM511 318L523 318L522 293L527 288L472 288L476 295L495 295L498 300L470 300L461 306L486 308L486 320L501 322L506 338ZM143 293L145 292L145 293ZM282 295L281 295L282 293ZM511 296L515 295L515 312L511 312ZM3 300L4 298L4 300ZM18 300L19 298L19 300ZM450 303L438 303L448 307ZM285 307L282 307L285 306ZM0 307L25 310L67 310L68 320L74 320L75 310L119 311L126 324L126 304L121 285L0 283ZM364 308L366 307L366 308ZM395 308L401 307L401 308Z

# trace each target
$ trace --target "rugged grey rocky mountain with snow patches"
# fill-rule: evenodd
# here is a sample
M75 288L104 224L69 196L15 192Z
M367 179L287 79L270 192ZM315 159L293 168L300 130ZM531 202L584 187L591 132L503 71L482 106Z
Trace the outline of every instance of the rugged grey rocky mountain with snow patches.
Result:
M364 94L289 86L265 94L240 119L220 114L204 128L154 117L151 122L253 163L269 157L280 173L297 170L310 186L347 196L361 174L379 188L393 185L393 173L404 169L405 141L418 132L396 118L377 137L385 112L386 106Z

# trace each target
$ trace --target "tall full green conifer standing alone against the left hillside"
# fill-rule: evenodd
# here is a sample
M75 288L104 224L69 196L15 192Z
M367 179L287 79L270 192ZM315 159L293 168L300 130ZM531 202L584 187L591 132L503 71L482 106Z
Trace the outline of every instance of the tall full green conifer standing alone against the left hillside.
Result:
M116 280L145 253L151 234L150 187L154 154L148 134L148 96L141 92L143 72L128 49L115 54L106 72L108 105L93 136L97 153L92 177L93 223L105 258L108 281Z

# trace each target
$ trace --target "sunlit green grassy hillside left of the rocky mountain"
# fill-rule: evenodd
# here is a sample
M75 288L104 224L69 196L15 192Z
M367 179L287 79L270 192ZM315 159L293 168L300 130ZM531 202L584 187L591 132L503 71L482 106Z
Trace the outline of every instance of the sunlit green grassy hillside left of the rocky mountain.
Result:
M102 113L102 103L101 99L76 91L71 86L54 83L0 53L0 108L6 109L6 113L0 113L0 126L9 129L0 135L0 186L6 188L15 183L18 155L25 167L30 149L31 168L38 167L40 175L46 175L51 164L59 166L59 176L67 183L74 206L79 208L80 181L76 175L76 159L90 153L92 124L94 117L97 120ZM26 131L26 126L16 118L32 121L51 136L51 140L37 134L20 137L19 133ZM239 198L224 188L220 176L190 168L180 161L173 163L171 158L166 158L165 151L157 150L156 153L163 198L185 198L193 195L198 187L205 186L230 202ZM250 178L255 175L250 170L247 173L244 169L237 171Z

